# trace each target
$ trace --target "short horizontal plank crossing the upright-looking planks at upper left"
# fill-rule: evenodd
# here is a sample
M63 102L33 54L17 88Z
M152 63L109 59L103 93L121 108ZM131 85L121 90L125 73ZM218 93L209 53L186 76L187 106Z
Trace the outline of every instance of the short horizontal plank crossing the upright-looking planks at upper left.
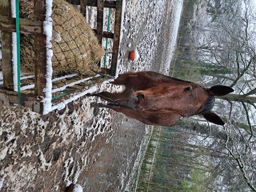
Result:
M16 32L16 18L0 16L0 30ZM20 32L23 34L40 34L43 32L43 22L20 18Z

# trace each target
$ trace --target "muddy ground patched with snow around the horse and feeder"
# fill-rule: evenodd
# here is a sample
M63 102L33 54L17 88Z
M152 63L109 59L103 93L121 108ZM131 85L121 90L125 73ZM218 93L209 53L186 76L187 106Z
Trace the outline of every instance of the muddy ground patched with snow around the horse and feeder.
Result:
M120 73L168 71L175 11L181 4L126 1ZM139 60L123 60L134 48ZM101 85L102 90L113 86ZM93 102L100 101L84 97L46 116L0 105L0 191L63 191L70 183L84 191L131 191L152 127L94 108Z

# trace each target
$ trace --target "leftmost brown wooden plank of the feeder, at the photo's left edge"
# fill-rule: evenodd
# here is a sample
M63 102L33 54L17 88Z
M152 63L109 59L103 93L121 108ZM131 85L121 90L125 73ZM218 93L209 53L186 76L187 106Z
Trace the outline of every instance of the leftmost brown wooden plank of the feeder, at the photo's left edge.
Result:
M0 14L3 16L11 16L11 1L0 1ZM13 90L13 70L12 70L12 33L2 31L2 71L4 79L4 87Z

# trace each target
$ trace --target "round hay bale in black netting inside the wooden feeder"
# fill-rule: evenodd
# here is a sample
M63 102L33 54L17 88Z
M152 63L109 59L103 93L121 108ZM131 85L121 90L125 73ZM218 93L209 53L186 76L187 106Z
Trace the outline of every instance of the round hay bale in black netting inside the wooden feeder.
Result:
M33 1L21 2L21 17L33 19ZM104 50L98 43L85 17L64 0L53 0L52 7L52 69L54 75L80 73L92 75L99 71L98 63ZM21 71L34 71L34 41L32 36L21 38Z

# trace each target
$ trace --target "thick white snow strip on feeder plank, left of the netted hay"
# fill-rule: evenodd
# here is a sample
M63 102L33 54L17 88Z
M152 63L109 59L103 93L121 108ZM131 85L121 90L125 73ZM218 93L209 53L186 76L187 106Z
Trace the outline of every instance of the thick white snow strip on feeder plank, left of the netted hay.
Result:
M52 66L51 66L51 57L53 51L51 49L51 39L52 39L52 0L46 0L46 13L44 21L44 34L46 34L46 87L44 88L45 98L42 100L44 102L44 111L43 114L47 114L51 109L51 89L52 89Z

